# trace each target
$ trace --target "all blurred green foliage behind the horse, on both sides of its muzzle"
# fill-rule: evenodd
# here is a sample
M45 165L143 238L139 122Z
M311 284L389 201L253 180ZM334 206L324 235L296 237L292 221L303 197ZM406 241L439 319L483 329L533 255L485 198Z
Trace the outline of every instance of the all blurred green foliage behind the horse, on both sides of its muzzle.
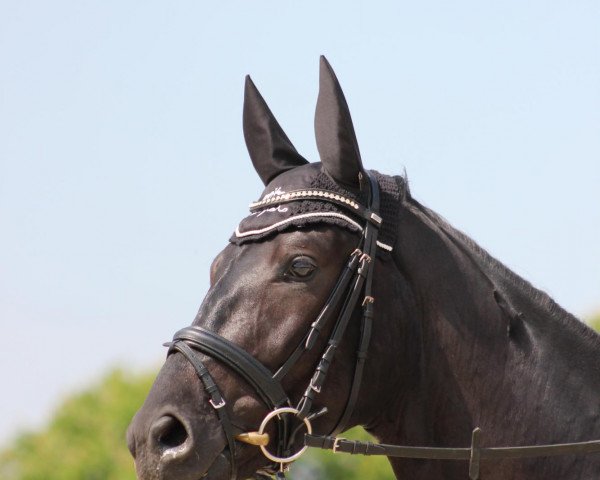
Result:
M588 319L600 331L600 312ZM135 480L125 431L141 406L154 375L113 370L98 384L67 398L48 426L19 435L0 452L2 480ZM347 438L372 438L361 428ZM382 457L334 455L310 450L290 473L296 480L393 480Z

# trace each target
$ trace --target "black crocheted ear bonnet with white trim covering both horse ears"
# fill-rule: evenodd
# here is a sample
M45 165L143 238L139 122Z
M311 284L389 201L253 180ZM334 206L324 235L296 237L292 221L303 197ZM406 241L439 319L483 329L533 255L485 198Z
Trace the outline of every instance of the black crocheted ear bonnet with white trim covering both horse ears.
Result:
M278 232L323 223L362 232L362 222L352 210L365 204L365 170L350 110L325 57L320 62L315 112L320 163L308 163L296 151L249 77L243 118L248 152L266 188L250 204L251 213L237 226L230 239L232 243L260 241ZM381 190L383 217L377 244L385 251L392 251L398 224L397 204L405 190L405 181L402 177L372 173ZM282 198L288 202L270 205Z

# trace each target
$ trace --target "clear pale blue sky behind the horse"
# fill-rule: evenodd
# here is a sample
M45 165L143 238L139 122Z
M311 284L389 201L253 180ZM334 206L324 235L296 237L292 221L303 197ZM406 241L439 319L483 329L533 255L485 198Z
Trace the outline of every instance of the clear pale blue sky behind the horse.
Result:
M2 2L0 442L111 365L158 367L261 190L244 75L314 161L320 54L367 167L600 308L597 0Z

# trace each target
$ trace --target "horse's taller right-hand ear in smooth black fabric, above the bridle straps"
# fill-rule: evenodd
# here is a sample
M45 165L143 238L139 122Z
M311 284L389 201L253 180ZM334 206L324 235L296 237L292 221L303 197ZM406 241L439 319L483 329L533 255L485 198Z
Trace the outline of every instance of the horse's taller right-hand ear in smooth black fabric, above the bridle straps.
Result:
M364 171L350 110L331 65L321 56L315 135L323 167L339 183L360 187Z

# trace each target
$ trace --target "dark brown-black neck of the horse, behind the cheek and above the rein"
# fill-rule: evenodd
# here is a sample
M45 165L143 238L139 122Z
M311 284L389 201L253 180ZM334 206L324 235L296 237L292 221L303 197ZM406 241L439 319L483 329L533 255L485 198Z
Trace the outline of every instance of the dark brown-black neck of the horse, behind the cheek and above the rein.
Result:
M417 303L413 384L372 431L437 446L468 445L474 427L488 445L600 438L598 337L505 267L495 278L427 213L408 205L396 244Z

